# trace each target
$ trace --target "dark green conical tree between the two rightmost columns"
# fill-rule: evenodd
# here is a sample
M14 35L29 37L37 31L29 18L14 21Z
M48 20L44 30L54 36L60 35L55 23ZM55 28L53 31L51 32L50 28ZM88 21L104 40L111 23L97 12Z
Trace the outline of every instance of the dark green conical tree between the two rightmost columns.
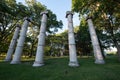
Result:
M91 55L92 46L87 23L84 19L81 20L81 25L78 26L79 30L75 34L77 53L82 55Z

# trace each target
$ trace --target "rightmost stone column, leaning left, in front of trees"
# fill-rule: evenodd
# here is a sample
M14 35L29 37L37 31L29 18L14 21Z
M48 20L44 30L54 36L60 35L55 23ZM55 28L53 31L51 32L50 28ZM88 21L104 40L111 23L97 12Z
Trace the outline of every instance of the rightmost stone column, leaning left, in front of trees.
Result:
M98 42L98 38L95 32L95 28L92 22L92 18L91 17L87 17L87 22L89 25L89 32L90 32L90 36L91 36L91 40L92 40L92 45L93 45L93 51L94 51L94 56L95 56L95 63L96 64L104 64L104 59L101 53L101 49L99 46L99 42Z

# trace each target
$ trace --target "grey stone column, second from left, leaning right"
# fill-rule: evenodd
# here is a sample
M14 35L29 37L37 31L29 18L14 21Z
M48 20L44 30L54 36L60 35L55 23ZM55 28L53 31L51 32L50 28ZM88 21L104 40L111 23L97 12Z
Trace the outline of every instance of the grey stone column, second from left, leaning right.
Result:
M15 54L13 57L13 60L11 61L11 64L19 64L21 61L21 54L23 51L23 47L24 47L24 41L26 38L26 33L27 33L27 29L28 29L28 25L29 25L30 19L29 18L25 18L25 21L22 25L22 29L20 32L20 37L17 43L17 47L15 50Z

